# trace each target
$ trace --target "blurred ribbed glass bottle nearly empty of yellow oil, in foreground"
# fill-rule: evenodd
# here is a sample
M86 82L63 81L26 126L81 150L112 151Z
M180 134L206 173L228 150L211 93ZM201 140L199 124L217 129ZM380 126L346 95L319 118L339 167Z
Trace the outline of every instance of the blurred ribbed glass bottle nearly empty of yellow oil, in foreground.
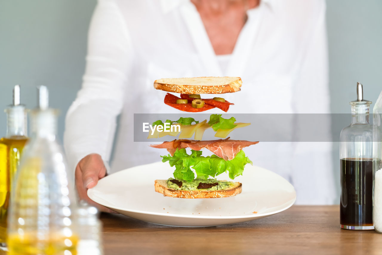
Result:
M45 86L39 87L39 106L31 114L31 141L11 192L9 255L76 255L74 189L56 141L57 111L48 107Z

